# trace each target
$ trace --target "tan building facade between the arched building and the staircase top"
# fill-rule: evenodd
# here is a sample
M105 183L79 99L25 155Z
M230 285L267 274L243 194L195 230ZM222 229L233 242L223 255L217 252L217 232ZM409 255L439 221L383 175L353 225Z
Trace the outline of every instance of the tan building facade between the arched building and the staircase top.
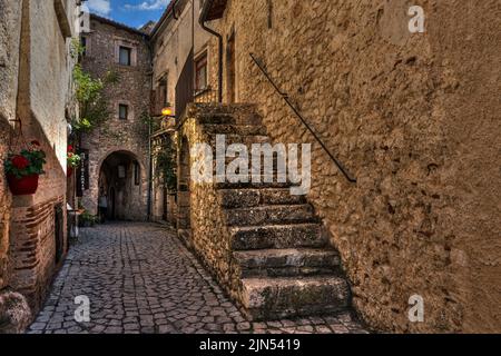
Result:
M179 210L176 191L166 187L164 179L157 174L158 154L165 150L164 145L176 141L173 130L176 122L173 118L163 117L161 109L170 107L173 115L179 118L186 103L193 99L210 100L215 93L208 86L208 70L204 71L204 68L208 68L207 50L210 36L198 23L200 4L200 1L193 0L173 1L150 32L153 50L150 112L158 129L153 140L154 220L175 222ZM197 63L205 67L197 67Z

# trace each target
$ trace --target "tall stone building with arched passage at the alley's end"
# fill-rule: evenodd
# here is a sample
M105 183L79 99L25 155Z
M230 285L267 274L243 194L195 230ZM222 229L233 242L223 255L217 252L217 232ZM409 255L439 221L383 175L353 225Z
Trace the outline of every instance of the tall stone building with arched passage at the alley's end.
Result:
M149 95L151 61L146 33L97 16L84 33L82 68L94 78L112 73L106 87L109 118L81 137L88 159L82 205L97 215L100 192L108 197L108 218L146 220L149 191Z

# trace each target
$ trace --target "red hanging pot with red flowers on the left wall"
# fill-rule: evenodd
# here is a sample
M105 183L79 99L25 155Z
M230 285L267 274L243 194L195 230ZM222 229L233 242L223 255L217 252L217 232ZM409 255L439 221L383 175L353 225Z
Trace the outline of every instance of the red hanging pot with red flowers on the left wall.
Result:
M38 189L39 176L45 174L45 164L46 152L38 141L32 141L28 149L19 154L9 154L3 166L12 195L33 195Z

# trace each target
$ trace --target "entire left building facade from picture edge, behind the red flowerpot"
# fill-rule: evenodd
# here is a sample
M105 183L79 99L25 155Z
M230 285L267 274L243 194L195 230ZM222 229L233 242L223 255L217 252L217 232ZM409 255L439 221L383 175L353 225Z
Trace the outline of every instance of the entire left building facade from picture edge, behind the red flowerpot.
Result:
M70 39L78 36L77 2L0 3L0 293L21 293L32 312L67 250L67 131L76 108ZM18 144L21 129L28 142L38 140L46 151L46 174L35 195L12 197L3 158L26 148Z

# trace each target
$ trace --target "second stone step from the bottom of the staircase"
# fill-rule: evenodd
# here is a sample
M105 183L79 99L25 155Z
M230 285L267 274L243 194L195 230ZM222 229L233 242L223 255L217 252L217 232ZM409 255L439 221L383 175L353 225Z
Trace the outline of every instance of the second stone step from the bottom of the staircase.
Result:
M235 251L243 278L337 274L340 254L333 249L292 248Z

